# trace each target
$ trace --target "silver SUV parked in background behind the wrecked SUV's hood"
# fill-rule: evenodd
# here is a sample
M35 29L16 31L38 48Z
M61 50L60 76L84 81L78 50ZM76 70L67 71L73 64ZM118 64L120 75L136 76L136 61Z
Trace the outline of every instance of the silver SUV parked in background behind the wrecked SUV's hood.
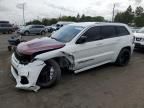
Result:
M46 33L46 28L44 25L28 25L19 29L17 33L21 35L26 35L26 36L29 34L44 35Z

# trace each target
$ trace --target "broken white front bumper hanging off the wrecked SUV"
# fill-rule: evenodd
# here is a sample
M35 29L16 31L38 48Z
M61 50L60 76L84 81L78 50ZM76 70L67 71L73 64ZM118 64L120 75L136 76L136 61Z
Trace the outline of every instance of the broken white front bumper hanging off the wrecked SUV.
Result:
M36 85L38 76L46 64L41 60L35 60L27 65L20 64L15 55L12 54L11 73L16 79L16 88L38 91Z

